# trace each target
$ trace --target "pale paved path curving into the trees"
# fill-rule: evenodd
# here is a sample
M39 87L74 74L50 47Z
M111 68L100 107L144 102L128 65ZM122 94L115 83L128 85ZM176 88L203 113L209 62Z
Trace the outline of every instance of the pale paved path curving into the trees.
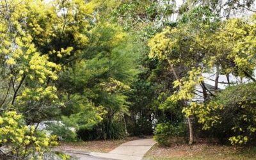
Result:
M76 152L68 151L72 153L79 159L92 159L92 160L106 160L106 159L119 159L119 160L141 160L150 150L150 148L156 144L156 141L153 139L143 139L143 140L134 140L128 141L119 147L116 147L114 150L111 150L109 153L97 153L97 152ZM65 151L64 151L65 152Z

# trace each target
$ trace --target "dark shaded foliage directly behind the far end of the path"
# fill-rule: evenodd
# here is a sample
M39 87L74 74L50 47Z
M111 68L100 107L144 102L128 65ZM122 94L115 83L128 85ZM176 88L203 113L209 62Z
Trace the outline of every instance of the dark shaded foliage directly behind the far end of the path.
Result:
M141 74L140 76L142 76ZM127 93L129 97L129 115L125 116L127 131L131 136L152 134L151 114L154 99L154 88L152 83L143 79L134 81L131 90Z

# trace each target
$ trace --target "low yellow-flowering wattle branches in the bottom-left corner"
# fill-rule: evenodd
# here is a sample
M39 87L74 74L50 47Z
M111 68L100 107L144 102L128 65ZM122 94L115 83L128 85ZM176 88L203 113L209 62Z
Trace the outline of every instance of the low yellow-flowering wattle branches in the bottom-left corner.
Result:
M8 111L0 116L0 143L6 152L15 150L19 157L31 155L35 159L42 159L48 147L58 144L56 136L49 137L44 132L36 131L33 125L24 125L22 116L15 111ZM9 143L12 145L8 145Z

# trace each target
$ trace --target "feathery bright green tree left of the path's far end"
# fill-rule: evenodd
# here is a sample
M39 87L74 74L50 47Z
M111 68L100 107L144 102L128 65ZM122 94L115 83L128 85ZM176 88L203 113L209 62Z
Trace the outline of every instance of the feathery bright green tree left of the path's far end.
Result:
M103 128L96 136L118 138L112 119L128 113L125 93L138 74L140 55L137 45L116 25L104 22L93 29L92 36L91 45L83 51L84 59L61 73L58 85L65 91L62 99L69 101L62 112L80 130ZM90 135L84 133L83 139L85 136Z

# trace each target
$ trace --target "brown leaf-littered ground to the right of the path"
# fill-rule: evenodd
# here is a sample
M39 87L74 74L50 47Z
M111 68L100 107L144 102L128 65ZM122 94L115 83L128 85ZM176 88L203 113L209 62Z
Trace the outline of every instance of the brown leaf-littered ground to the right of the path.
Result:
M196 143L195 145L176 144L171 147L152 147L144 159L256 159L256 148L242 148L214 143Z

